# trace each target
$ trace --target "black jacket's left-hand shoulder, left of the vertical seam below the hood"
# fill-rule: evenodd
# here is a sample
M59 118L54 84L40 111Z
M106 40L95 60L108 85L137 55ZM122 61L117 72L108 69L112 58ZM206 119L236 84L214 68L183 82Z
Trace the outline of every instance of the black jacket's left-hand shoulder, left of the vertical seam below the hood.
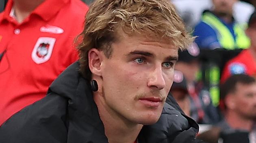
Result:
M0 127L0 143L66 143L67 99L50 93Z

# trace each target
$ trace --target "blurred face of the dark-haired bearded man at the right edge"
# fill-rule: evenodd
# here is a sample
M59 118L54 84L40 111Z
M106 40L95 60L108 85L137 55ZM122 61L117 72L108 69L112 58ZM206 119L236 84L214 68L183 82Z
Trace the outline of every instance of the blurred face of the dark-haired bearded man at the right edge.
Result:
M245 118L256 118L256 83L237 84L233 98L236 113Z

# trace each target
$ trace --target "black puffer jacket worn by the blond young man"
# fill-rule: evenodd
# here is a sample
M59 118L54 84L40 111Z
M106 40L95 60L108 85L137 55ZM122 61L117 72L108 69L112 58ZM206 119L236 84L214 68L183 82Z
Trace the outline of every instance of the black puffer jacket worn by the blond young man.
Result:
M89 82L69 66L48 95L13 115L0 127L0 143L108 143ZM169 97L160 120L144 126L139 143L199 143L198 125Z

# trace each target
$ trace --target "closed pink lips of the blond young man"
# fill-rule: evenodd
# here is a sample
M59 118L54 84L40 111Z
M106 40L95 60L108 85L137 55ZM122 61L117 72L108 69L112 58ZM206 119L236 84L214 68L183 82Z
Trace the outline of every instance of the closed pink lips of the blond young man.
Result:
M146 107L159 107L163 102L163 99L159 97L147 97L139 99Z

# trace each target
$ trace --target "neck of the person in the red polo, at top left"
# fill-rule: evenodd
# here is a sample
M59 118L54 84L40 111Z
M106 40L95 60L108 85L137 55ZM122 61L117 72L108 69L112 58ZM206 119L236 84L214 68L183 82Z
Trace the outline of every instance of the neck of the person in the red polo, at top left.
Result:
M13 0L16 20L22 23L30 13L45 0Z

